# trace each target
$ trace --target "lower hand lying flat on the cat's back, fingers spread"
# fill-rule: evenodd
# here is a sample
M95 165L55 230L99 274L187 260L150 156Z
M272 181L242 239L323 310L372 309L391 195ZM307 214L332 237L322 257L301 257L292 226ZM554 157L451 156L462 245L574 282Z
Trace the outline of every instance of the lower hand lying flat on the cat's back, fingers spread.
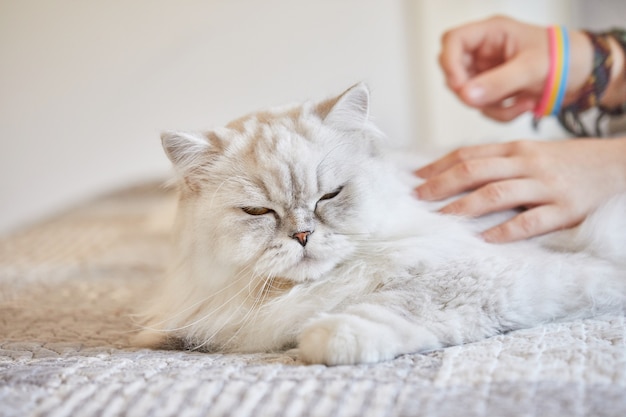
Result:
M476 217L526 208L482 233L488 242L509 242L575 226L603 201L626 191L626 137L469 146L416 175L426 179L416 189L422 200L471 191L442 213Z

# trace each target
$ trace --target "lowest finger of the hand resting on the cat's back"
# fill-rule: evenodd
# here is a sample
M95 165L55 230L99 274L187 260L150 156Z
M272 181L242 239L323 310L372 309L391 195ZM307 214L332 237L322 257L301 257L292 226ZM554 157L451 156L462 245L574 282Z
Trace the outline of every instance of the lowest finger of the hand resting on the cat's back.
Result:
M486 230L482 238L491 243L505 243L528 239L548 232L574 226L566 221L562 209L556 205L542 205L526 210L511 220Z

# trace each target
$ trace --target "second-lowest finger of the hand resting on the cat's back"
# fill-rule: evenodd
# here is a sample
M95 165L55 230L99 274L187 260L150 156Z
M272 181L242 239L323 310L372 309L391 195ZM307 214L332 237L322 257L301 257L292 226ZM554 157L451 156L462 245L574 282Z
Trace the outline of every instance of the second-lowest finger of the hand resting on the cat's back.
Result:
M444 214L478 217L497 211L543 204L549 199L550 194L538 181L527 178L507 179L490 182L439 211Z

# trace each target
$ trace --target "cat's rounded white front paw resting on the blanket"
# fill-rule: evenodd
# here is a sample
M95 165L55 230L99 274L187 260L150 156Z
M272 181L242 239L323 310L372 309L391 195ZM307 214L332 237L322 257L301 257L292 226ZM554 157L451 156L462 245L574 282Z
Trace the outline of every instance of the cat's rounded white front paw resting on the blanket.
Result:
M312 321L300 334L300 358L307 363L352 365L393 359L398 352L387 324L351 314L333 314Z

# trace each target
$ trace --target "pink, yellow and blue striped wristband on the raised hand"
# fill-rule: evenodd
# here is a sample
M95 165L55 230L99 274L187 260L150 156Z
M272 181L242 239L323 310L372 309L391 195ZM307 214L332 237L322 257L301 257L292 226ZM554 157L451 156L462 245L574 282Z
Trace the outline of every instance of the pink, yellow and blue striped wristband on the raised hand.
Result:
M569 72L569 36L563 26L548 27L550 69L541 95L535 108L533 125L536 127L543 116L555 115L561 110L567 76Z

